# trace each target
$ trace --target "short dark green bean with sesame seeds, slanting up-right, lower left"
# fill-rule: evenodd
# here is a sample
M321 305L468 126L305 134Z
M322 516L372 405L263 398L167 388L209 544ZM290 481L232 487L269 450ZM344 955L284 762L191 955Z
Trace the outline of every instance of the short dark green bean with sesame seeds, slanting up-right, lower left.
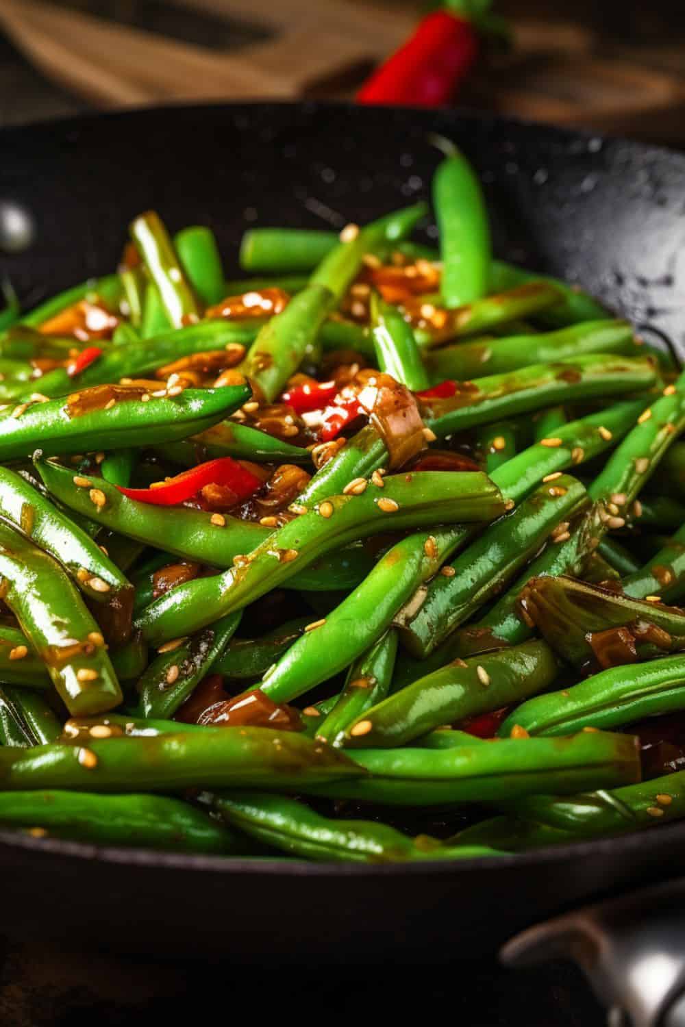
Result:
M160 652L138 683L145 717L169 719L222 654L240 623L241 611L220 617L208 627Z

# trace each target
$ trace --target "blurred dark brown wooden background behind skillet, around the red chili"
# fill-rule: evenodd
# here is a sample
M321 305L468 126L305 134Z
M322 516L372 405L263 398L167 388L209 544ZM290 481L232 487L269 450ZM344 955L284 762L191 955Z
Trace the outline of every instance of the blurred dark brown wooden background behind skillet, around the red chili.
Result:
M0 124L175 101L352 98L430 6L0 0ZM494 0L454 102L685 147L685 4Z

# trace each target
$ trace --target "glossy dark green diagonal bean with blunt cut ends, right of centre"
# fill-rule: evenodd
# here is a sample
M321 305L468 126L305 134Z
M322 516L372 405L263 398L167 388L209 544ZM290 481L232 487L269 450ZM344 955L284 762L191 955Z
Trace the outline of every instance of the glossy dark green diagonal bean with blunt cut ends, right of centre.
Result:
M435 577L420 602L398 612L395 623L405 648L427 656L535 556L550 532L588 502L584 486L570 476L539 486L452 562L452 576Z

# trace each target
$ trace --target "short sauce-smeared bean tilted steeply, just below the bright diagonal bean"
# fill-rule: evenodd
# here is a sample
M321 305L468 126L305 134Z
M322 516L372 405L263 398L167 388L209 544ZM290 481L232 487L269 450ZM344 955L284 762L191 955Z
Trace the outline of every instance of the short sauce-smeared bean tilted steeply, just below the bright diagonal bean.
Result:
M354 660L336 705L316 730L317 738L336 749L345 744L349 726L387 695L396 652L397 633L390 629Z

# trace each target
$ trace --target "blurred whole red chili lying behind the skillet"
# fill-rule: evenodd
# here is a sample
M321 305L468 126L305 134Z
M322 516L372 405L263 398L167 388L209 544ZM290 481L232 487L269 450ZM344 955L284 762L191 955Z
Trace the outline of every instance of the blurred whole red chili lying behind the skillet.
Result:
M470 22L446 10L433 11L365 82L356 99L360 104L440 107L452 99L478 51Z

